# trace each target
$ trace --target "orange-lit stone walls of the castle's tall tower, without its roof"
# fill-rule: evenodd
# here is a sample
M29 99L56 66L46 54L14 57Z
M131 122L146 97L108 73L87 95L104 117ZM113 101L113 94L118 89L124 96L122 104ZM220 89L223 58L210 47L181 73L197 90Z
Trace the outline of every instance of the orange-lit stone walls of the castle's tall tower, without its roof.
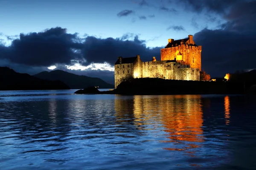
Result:
M182 54L182 59L186 65L191 68L199 68L201 71L201 51L202 46L178 45L172 48L161 49L161 60L173 60L177 54Z

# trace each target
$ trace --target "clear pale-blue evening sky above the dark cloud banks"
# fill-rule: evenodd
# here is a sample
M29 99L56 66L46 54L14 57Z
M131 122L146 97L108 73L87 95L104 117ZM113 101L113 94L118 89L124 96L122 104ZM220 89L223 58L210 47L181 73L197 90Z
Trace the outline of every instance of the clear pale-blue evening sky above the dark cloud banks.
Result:
M100 38L138 34L148 47L165 46L167 39L180 39L203 28L214 29L214 22L204 13L186 10L168 0L0 0L0 32L4 35L39 32L60 26L68 33L93 35ZM163 8L164 7L164 8ZM165 10L161 10L163 8ZM176 11L168 11L174 8ZM118 17L122 10L132 10ZM154 17L149 17L149 16ZM145 16L146 19L140 19ZM212 17L212 15L211 15ZM170 26L182 26L175 31ZM8 43L7 39L6 42ZM10 41L9 41L10 42Z

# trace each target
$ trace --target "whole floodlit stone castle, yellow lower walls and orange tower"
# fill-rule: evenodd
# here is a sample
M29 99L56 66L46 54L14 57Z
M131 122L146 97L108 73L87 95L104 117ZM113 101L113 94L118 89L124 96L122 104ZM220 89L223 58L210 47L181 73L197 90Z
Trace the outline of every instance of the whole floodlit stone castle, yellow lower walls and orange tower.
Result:
M193 36L181 40L169 39L161 49L161 60L142 62L136 57L118 57L115 63L115 88L125 77L163 78L199 81L202 46L196 45Z

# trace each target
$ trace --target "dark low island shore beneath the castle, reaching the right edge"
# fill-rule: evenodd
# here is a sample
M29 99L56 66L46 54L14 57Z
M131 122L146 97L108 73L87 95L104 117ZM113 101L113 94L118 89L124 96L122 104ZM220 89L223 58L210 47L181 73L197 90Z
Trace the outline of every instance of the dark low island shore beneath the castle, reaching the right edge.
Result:
M121 82L113 91L87 88L76 94L168 95L168 94L245 94L255 82L186 81L137 78ZM97 90L97 91L96 91Z

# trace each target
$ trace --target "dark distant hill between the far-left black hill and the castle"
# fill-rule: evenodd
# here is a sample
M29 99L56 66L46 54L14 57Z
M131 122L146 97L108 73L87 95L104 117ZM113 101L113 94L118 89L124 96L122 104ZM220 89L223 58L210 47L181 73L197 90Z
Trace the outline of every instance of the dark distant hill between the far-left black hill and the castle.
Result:
M79 76L62 70L54 70L50 72L43 71L35 74L34 76L47 80L60 80L61 82L67 84L71 89L84 89L90 86L99 86L99 88L114 88L114 85L111 85L102 79L96 77Z

